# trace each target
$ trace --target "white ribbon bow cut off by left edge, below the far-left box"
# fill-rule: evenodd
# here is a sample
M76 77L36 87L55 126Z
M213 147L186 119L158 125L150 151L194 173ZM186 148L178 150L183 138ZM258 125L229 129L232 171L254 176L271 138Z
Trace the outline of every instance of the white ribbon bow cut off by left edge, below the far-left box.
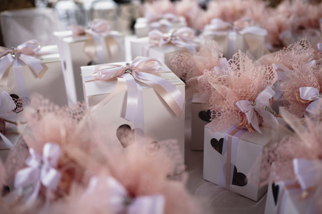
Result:
M16 107L16 104L14 104L12 97L7 92L2 91L0 93L0 118L2 118L7 113L15 109L15 107ZM0 137L2 138L7 148L9 149L14 148L14 145L12 144L12 142L10 142L9 139L5 137L5 135L0 133Z

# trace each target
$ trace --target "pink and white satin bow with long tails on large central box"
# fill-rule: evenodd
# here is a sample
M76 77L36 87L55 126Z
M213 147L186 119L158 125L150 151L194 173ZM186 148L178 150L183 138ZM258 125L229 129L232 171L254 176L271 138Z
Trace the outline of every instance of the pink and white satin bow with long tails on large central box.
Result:
M180 118L185 104L185 97L175 85L153 75L153 73L160 71L170 70L164 69L161 62L152 57L137 57L131 64L127 63L126 65L103 64L95 66L92 76L84 77L84 82L117 78L118 83L113 92L98 105L94 106L92 110L104 106L119 92L126 90L126 87L121 83L123 79L126 81L128 91L125 119L132 121L136 128L144 130L143 94L141 86L136 81L153 88L175 115Z

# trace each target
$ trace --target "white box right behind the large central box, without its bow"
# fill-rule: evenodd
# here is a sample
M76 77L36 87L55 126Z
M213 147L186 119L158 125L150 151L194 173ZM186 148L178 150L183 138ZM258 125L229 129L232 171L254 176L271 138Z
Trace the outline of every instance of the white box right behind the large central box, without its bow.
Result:
M164 46L148 47L149 38L143 37L133 39L131 42L131 57L135 59L137 56L144 56L144 49L147 49L147 56L158 59L160 62L166 64L171 69L170 58L181 52L189 53L184 47L177 47L173 44L166 44Z

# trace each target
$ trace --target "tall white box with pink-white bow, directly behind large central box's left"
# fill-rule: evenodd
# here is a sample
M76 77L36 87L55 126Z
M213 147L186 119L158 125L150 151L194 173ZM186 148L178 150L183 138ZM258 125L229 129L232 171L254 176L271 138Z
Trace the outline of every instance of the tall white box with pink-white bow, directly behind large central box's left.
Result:
M125 60L124 34L111 31L107 21L94 20L89 29L71 26L72 31L56 32L68 96L68 104L84 100L81 66Z

